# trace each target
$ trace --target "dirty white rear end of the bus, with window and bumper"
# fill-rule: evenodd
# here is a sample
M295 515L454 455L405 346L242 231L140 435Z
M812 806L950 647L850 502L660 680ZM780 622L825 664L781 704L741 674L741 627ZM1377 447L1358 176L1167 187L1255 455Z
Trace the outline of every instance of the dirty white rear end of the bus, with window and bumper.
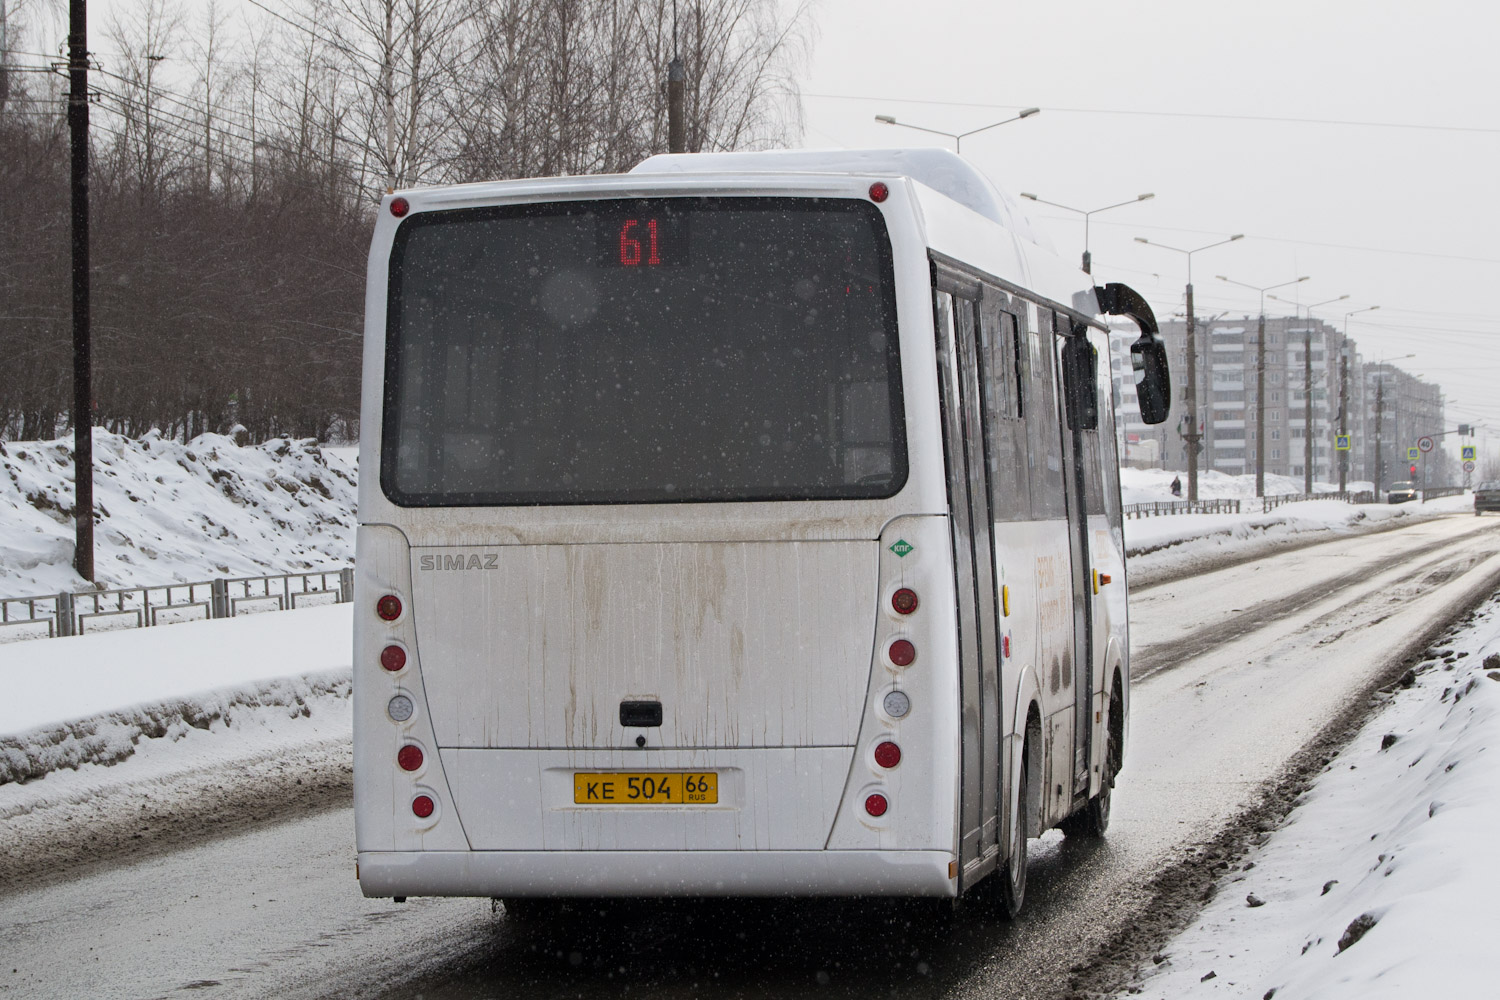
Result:
M387 199L356 586L366 895L957 891L942 457L909 447L936 427L930 283L906 193L884 193Z

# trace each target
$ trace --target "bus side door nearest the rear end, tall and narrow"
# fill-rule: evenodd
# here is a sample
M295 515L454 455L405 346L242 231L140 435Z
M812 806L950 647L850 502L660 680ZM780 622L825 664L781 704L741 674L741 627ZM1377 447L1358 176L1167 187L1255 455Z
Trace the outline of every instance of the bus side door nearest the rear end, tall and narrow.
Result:
M960 727L963 741L958 808L960 889L982 877L999 856L999 649L994 574L994 513L986 438L986 327L980 286L938 274L938 387L954 585L958 598Z

